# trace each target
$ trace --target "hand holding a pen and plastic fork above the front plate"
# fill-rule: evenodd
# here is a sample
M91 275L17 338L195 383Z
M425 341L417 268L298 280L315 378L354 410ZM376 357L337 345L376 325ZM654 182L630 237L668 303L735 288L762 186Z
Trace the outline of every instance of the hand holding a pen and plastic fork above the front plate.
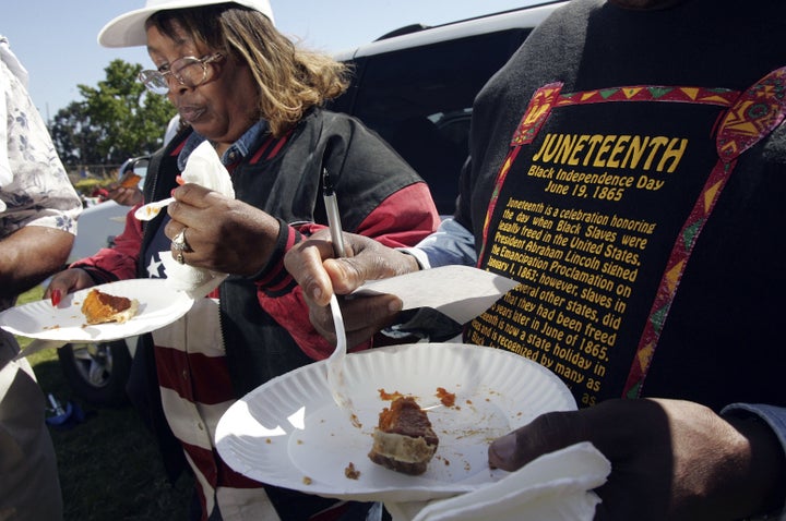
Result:
M327 304L335 292L346 295L366 280L383 279L417 271L410 255L386 247L373 239L344 233L347 256L334 258L329 230L314 233L287 252L284 264L302 287L309 305L309 318L317 331L335 342L333 318ZM390 326L401 311L394 295L340 299L347 344L358 346L380 329Z

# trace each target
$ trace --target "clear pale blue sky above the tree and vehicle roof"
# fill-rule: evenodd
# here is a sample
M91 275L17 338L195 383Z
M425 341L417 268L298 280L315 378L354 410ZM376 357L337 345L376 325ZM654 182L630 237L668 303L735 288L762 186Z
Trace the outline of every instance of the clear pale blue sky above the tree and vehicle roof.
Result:
M29 92L45 118L80 99L116 58L151 64L144 47L106 49L96 43L115 16L144 0L3 2L0 34L29 72ZM533 0L271 0L276 26L310 48L342 51L413 23L437 25L535 3Z

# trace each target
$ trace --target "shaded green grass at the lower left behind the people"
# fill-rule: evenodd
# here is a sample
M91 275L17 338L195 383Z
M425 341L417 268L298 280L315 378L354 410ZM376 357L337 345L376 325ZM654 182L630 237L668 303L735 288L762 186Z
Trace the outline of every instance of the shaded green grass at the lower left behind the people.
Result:
M17 304L41 298L35 288ZM22 347L29 339L19 337ZM71 401L85 412L72 428L49 427L58 458L64 521L186 520L193 484L182 476L170 484L158 447L131 408L95 408L73 395L53 349L28 358L45 395Z

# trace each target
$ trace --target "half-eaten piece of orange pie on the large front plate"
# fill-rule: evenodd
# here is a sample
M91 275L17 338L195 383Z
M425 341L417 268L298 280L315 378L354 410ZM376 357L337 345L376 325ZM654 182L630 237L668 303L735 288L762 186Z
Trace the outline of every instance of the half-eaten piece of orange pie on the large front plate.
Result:
M401 397L380 413L369 458L396 472L418 475L426 472L438 445L426 411L414 398Z

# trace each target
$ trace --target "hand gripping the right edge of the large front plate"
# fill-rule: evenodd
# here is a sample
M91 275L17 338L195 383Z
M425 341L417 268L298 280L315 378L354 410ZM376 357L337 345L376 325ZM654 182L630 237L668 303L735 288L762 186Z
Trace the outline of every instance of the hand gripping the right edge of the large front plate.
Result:
M611 462L600 520L733 520L783 502L784 453L766 426L678 400L609 400L547 413L495 440L489 464L513 471L591 441Z

